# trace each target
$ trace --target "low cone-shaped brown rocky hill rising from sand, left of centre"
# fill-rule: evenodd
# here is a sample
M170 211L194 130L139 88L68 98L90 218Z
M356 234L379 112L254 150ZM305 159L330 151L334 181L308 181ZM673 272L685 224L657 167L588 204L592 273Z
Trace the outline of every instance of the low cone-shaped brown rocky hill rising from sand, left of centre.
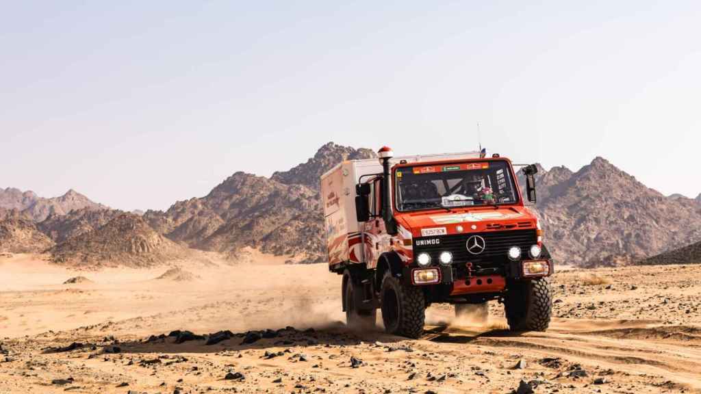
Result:
M120 212L103 226L68 238L50 250L59 264L154 266L186 255L138 215Z

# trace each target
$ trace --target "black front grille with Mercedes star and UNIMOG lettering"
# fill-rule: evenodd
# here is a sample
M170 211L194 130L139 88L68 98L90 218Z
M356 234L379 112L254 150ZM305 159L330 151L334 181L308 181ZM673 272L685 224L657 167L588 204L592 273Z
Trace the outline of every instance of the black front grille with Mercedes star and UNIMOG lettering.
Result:
M484 238L484 252L471 254L466 246L468 238L471 236L482 236ZM437 245L417 245L425 243L426 240L438 240ZM536 243L538 235L536 230L512 230L512 231L489 231L484 233L455 234L451 236L435 236L414 238L414 256L421 252L428 252L431 261L437 262L441 252L449 251L453 254L453 261L456 263L489 263L501 264L508 261L507 252L510 247L521 247L522 258L528 257L529 248Z

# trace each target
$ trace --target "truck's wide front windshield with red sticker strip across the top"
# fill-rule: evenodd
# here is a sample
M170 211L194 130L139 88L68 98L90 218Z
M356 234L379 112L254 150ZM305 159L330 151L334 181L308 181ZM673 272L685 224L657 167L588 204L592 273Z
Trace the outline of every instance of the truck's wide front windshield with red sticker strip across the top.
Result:
M516 185L505 161L416 165L395 172L397 209L512 204Z

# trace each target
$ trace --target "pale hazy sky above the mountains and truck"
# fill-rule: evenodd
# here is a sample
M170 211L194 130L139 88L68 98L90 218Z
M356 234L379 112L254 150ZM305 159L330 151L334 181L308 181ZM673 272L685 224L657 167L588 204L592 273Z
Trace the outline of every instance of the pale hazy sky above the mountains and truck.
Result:
M3 1L0 187L166 209L325 142L701 193L699 1Z

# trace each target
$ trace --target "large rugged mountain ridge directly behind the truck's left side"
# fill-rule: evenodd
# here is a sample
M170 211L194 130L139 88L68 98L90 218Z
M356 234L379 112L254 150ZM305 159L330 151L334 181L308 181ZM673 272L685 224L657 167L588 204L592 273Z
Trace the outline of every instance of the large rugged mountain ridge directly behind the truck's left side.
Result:
M329 142L289 171L270 178L236 172L207 196L148 211L144 219L172 240L232 257L250 246L292 261L325 261L319 177L340 161L373 156Z

